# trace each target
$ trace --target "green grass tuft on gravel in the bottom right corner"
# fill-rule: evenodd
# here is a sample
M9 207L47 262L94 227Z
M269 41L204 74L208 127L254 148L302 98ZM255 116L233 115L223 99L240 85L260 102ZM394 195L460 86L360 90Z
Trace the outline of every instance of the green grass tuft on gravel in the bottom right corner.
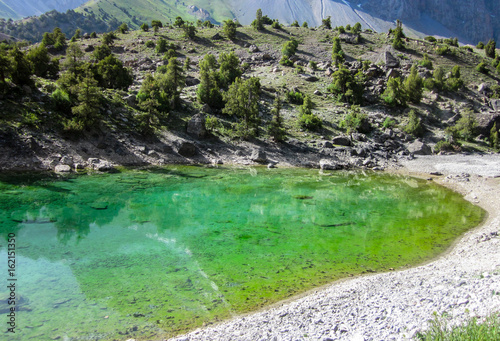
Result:
M484 322L472 318L466 324L450 327L446 316L437 316L431 322L429 330L418 333L420 341L495 341L500 340L500 316L494 314Z

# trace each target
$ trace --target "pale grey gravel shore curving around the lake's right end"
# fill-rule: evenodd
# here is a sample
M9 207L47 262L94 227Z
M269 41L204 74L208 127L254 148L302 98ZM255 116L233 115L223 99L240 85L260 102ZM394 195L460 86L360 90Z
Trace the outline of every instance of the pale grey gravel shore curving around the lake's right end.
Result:
M488 218L431 263L335 282L172 340L406 340L434 312L446 313L450 324L499 312L500 156L418 157L401 165L388 171L432 178L483 207Z

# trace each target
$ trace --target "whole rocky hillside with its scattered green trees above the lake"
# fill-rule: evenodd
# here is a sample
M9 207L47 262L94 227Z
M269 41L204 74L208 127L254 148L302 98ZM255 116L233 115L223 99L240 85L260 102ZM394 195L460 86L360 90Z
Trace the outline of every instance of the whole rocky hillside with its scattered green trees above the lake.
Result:
M500 90L493 59L485 57L483 50L455 47L451 41L407 39L398 51L387 34L363 31L359 43L345 41L355 34L340 35L345 62L340 61L339 67L332 63L332 39L338 35L334 30L265 26L256 31L245 26L237 28L233 40L218 27L200 28L192 39L184 35L182 28L164 26L158 33L131 31L107 40L113 55L130 68L130 83L122 73L108 76L112 71L106 63L114 63L118 71L121 64L103 61L107 54L97 57L96 51L106 51L101 35L77 39L81 57L68 58L74 48L66 53L49 50L62 57L61 71L51 76L58 81L32 76L33 83L23 83L13 74L0 99L2 167L100 168L100 163L89 161L93 158L104 165L279 162L377 169L432 149L495 151L491 146L496 145L490 142L496 141L494 124L500 127ZM298 48L290 55L291 64L286 63L290 66L284 66L282 48L290 38ZM166 53L157 52L162 40ZM214 54L222 62L222 53L230 52L237 59L227 59L227 71L217 64L208 73L200 69L204 56ZM161 85L162 77L174 72L164 65L174 65L173 56L180 65L189 57L189 68L175 76L185 77L185 82L174 89ZM73 59L77 64L72 64ZM483 61L484 70L478 72L476 66ZM412 65L428 90L421 99L412 99L414 91L400 88L404 101L391 100L386 91L389 83L394 86L392 79L400 79L406 84ZM77 78L71 78L74 72ZM151 73L154 78L148 76ZM250 96L258 101L243 111L230 107L226 96L231 82L223 83L239 73L243 80L257 77L260 84L260 91ZM347 77L347 83L336 83L342 77ZM200 82L219 84L213 91L222 88L224 100L200 97ZM247 85L245 81L234 86L250 91ZM344 90L338 88L344 86ZM94 89L89 91L95 98L84 100L85 94L78 90L84 88ZM307 101L310 104L303 104ZM86 103L95 104L89 108ZM82 116L85 112L91 114ZM239 116L242 112L255 116L247 122ZM272 131L276 126L283 129L281 134Z

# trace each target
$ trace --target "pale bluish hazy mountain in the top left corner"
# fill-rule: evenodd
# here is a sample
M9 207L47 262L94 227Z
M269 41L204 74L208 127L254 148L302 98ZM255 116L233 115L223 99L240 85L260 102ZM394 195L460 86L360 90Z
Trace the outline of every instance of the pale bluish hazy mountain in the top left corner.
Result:
M0 0L0 18L21 19L56 10L75 9L88 0Z

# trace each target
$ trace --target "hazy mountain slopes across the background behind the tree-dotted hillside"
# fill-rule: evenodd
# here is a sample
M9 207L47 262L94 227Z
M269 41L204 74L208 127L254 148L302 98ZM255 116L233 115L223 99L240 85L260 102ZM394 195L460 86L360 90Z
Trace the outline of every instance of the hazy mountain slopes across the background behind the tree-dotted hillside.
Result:
M307 21L321 25L330 16L333 26L360 22L363 28L384 32L400 19L409 35L458 37L461 42L500 40L498 0L0 0L0 17L9 13L33 15L50 9L75 8L105 22L126 22L138 28L152 19L169 21L238 19L247 25L257 9L281 23ZM38 12L37 12L38 11Z

